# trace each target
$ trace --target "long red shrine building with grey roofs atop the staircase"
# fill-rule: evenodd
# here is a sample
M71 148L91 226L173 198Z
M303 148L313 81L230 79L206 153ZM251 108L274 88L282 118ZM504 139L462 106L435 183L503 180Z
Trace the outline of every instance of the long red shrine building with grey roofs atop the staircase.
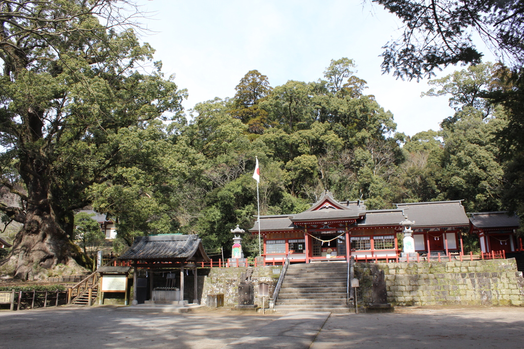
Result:
M462 200L395 204L396 209L367 210L364 201L336 201L326 191L296 215L260 216L266 263L385 260L400 254L401 221L414 221L415 251L422 256L464 253L462 231L470 227ZM258 222L249 231L258 234Z

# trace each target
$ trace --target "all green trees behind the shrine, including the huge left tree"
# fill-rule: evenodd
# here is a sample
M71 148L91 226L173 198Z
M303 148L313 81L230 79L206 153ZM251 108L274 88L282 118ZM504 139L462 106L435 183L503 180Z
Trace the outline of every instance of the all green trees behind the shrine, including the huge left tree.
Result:
M323 190L366 200L369 209L464 199L469 212L524 210L522 154L500 137L510 128L516 140L524 134L516 117L522 89L507 78L510 68L472 55L464 62L475 65L430 81L423 95L449 96L455 112L440 130L412 137L366 94L348 58L326 62L316 81L280 86L250 70L234 96L184 111L187 92L152 61L154 49L130 27L101 23L114 4L0 5L2 193L18 198L0 212L3 222L21 224L1 275L38 279L59 264L88 264L87 247L74 243L74 212L86 206L116 223L117 251L165 233L197 233L206 249L226 247L236 224L248 229L255 220L255 156L261 215L301 212ZM420 77L457 57L396 67ZM244 243L246 255L258 253L256 240Z

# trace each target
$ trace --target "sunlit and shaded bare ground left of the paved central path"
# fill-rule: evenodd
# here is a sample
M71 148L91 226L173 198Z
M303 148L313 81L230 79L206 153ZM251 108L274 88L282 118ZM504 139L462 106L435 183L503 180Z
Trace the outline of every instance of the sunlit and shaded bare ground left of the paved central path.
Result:
M0 348L221 348L279 316L172 314L114 307L0 312Z

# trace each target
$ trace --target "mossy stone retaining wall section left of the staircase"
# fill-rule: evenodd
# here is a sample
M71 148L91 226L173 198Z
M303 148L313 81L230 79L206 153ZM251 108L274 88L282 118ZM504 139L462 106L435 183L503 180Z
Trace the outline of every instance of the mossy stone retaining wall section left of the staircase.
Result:
M254 292L254 304L262 306L262 298L258 296L257 285L264 282L269 284L269 296L272 297L277 285L282 266L263 266L252 268L251 283ZM209 274L204 277L201 304L206 305L209 294L224 294L224 305L233 306L238 304L238 285L241 282L241 274L247 268L211 268ZM266 307L268 299L265 300Z

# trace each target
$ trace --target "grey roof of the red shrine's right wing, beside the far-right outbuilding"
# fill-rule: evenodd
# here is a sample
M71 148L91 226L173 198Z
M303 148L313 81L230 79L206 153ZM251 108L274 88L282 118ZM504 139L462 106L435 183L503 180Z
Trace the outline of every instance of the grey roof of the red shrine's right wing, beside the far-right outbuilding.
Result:
M460 227L469 226L462 200L413 202L395 204L404 211L410 221L415 221L413 228L424 227Z

